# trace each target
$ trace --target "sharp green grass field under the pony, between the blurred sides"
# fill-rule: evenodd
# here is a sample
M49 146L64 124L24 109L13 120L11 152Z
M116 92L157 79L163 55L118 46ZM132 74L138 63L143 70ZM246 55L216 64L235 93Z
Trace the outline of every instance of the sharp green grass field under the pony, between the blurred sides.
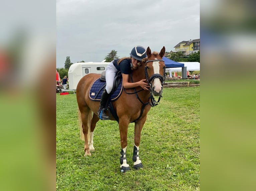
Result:
M116 121L97 123L91 157L84 157L76 95L56 94L56 190L200 190L200 87L164 88L141 132L143 169L132 168L134 123L120 172Z

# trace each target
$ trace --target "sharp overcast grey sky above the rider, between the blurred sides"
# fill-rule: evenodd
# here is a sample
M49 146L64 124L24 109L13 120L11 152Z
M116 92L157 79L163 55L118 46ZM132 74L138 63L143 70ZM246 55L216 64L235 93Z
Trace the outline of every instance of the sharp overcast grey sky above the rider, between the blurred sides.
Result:
M119 58L134 46L174 50L200 38L200 0L57 0L56 68L101 62L111 50Z

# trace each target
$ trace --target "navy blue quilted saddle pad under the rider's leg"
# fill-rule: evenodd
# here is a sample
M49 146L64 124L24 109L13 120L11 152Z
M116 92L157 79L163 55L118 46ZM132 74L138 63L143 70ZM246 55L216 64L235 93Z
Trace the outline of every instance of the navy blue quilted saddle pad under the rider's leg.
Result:
M89 97L93 101L100 101L101 95L106 87L106 82L102 82L100 78L94 81L89 91ZM110 96L110 100L116 100L123 92L123 79L121 79L115 92Z

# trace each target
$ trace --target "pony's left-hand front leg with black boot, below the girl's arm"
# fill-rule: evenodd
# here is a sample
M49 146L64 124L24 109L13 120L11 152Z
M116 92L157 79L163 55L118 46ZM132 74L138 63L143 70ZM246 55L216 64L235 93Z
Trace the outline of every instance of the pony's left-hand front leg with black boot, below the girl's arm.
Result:
M126 148L127 148L127 131L128 131L129 121L119 120L119 132L121 139L121 157L120 157L120 168L121 172L126 172L130 170L129 164L127 164L126 159Z

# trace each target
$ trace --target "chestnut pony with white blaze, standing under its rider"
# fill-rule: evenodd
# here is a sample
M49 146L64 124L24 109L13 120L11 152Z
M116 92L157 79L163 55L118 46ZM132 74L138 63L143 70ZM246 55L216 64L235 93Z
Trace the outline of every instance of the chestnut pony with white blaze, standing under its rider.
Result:
M165 54L163 47L158 54L147 48L147 58L143 59L137 69L134 69L129 76L129 82L138 82L146 79L150 85L150 90L146 91L140 87L133 89L125 89L120 97L113 101L114 109L119 117L119 132L121 139L121 172L130 170L126 159L127 147L127 131L128 125L134 122L134 148L133 157L134 168L142 168L141 160L139 160L139 144L140 133L147 119L147 113L152 106L157 105L160 100L163 83L165 80L165 65L162 60ZM94 151L93 147L93 131L96 123L99 121L97 111L99 109L99 101L93 101L89 98L89 90L93 82L100 77L99 74L88 74L84 76L77 85L77 102L79 108L80 135L85 140L85 156L91 156L90 151ZM154 96L159 96L155 101ZM110 120L115 118L110 115Z

